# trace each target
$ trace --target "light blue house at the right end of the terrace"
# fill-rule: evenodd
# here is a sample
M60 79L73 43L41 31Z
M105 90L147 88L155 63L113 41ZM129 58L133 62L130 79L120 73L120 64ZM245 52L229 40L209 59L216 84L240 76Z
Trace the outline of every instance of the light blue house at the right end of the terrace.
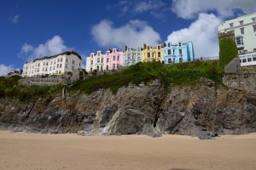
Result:
M192 42L178 42L172 44L171 42L164 42L162 48L163 58L165 64L190 62L194 61L195 53Z

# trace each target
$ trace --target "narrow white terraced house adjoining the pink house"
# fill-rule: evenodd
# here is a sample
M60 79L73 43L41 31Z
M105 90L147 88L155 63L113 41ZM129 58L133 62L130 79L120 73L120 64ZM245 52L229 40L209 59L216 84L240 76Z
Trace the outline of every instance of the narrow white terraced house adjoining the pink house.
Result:
M97 54L91 53L90 57L86 58L86 71L103 71L105 54L102 51L97 51Z

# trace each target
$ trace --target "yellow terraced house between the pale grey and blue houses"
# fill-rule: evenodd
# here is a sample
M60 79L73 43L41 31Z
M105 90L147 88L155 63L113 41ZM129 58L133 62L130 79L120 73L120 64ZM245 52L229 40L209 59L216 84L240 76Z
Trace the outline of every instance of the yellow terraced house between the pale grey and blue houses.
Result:
M158 44L156 48L152 48L148 44L144 44L142 50L142 60L147 61L163 61L162 46Z

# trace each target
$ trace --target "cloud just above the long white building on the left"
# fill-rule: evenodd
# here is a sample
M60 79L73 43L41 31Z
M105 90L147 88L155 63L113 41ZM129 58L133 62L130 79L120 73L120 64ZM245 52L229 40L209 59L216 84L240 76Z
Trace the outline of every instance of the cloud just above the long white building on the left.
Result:
M69 48L64 45L62 38L60 36L54 36L46 42L39 44L38 47L24 43L20 55L26 55L27 60L30 61L48 55L60 54L67 50L69 50Z

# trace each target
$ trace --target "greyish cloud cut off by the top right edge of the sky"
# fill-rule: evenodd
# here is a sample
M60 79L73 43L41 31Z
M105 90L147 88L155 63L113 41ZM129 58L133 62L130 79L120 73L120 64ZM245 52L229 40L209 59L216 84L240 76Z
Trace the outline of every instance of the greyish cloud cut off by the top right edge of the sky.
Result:
M234 16L236 9L251 14L255 8L255 0L172 0L172 12L183 19L194 19L198 14L209 11L224 19Z

